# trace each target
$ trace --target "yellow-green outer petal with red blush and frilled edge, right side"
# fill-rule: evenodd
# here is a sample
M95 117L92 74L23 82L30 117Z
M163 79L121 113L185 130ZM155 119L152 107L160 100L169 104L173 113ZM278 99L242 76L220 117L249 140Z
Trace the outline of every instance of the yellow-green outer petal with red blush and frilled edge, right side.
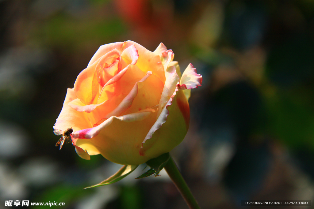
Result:
M146 135L140 155L155 158L171 151L185 137L189 120L190 109L187 99L182 91L176 89Z

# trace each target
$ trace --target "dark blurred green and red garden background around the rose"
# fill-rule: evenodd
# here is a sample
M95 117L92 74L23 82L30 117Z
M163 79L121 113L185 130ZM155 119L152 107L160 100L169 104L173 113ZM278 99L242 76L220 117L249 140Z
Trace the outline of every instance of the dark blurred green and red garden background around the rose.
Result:
M134 180L144 166L82 190L121 165L55 147L67 88L100 45L125 40L163 42L203 76L171 152L201 208L313 201L314 1L0 0L0 208L187 208L165 172Z

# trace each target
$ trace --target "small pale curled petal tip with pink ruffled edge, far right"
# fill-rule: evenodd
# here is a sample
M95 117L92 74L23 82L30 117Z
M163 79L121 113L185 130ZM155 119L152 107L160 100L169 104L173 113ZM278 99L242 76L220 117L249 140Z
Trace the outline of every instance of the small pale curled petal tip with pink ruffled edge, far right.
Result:
M202 86L203 78L196 73L196 69L190 63L182 74L179 89L193 89Z

